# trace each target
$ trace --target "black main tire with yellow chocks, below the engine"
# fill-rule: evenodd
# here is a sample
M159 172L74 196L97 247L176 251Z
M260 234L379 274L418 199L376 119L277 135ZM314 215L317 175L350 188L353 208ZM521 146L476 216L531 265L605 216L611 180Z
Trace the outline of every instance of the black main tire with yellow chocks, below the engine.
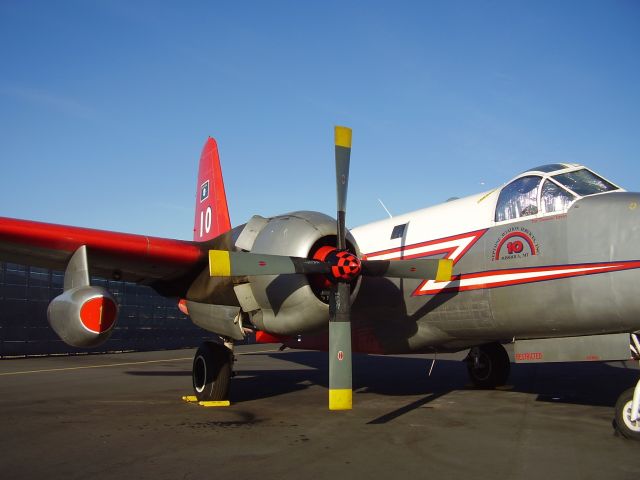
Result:
M224 345L204 342L193 357L193 391L198 401L227 400L231 380L231 351Z

